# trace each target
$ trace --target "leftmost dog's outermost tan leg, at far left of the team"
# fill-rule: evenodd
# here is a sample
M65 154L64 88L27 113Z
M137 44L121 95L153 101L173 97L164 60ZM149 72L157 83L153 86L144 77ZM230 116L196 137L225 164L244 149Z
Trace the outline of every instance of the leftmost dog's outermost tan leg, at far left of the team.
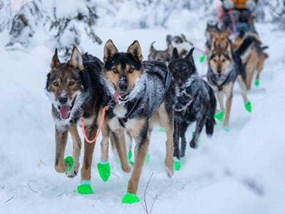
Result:
M56 127L56 163L55 169L58 173L65 173L68 165L64 163L64 151L66 150L66 141L68 130L66 127Z

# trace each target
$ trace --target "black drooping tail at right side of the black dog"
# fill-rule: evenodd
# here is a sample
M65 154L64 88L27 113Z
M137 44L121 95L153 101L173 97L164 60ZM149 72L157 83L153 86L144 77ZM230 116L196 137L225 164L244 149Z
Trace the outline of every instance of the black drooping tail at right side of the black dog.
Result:
M214 133L214 124L216 124L216 121L214 120L214 113L216 112L217 108L217 101L214 96L214 91L213 89L207 84L207 89L209 92L209 101L210 101L210 106L209 106L209 111L206 119L206 133L207 136L211 137Z

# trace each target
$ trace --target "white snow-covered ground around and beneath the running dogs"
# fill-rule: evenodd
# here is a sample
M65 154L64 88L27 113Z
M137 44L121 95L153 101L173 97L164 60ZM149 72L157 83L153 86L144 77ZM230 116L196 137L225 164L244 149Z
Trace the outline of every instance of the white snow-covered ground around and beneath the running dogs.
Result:
M147 58L150 43L165 49L167 34L185 33L196 46L204 44L204 21L169 29L120 29L100 25L96 34L113 39L126 51L138 39ZM253 113L245 111L239 87L234 91L231 131L215 127L212 140L202 135L197 150L187 147L182 170L169 179L165 174L165 134L159 127L150 142L150 162L145 165L138 196L145 195L152 213L249 213L285 212L285 38L274 26L259 24L270 58L261 74L261 87L249 92ZM130 174L113 161L108 183L100 180L95 165L100 145L96 144L92 172L95 195L76 193L80 175L68 179L53 169L55 151L51 103L43 88L53 52L44 45L33 50L5 51L5 34L0 34L0 213L144 213L142 205L122 205ZM84 38L83 38L83 41ZM86 41L88 41L86 39ZM85 51L103 58L103 46L82 43ZM199 70L202 70L198 64ZM201 71L202 72L202 71ZM193 127L187 132L188 140ZM66 156L71 155L68 139ZM147 181L153 173L145 193Z

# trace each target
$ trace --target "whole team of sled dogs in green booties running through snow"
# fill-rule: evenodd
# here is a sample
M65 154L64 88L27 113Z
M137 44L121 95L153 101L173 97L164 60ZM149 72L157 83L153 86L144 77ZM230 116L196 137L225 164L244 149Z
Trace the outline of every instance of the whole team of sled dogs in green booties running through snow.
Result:
M110 178L111 144L122 170L131 171L122 202L132 204L140 201L138 184L155 124L165 129L165 170L171 178L175 169L180 170L179 160L185 156L185 133L190 124L195 122L192 148L197 148L204 126L207 136L212 136L216 120L223 121L224 129L229 131L235 81L242 90L245 109L252 111L247 91L255 71L255 85L259 85L268 57L259 37L240 31L231 41L229 31L222 31L213 21L207 23L205 34L207 81L199 76L193 58L195 49L184 35L167 35L164 51L156 50L152 43L148 61L142 60L138 41L130 44L126 52L120 52L108 40L103 62L90 54L82 55L74 47L70 60L62 63L55 51L46 81L56 129L55 169L69 178L77 175L82 144L77 125L81 124L85 140L78 193L93 193L91 166L98 133L102 133L97 165L100 178L104 181ZM73 141L73 156L65 158L68 133ZM127 141L135 141L133 169L128 160Z

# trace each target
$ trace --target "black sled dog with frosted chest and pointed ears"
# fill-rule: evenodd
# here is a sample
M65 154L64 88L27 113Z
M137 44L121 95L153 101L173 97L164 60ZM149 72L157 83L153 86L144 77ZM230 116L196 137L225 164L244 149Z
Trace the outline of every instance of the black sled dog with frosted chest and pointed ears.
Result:
M185 132L188 126L196 121L195 132L190 141L191 148L197 148L202 128L212 136L214 132L214 113L217 101L214 91L208 83L199 78L192 56L194 48L187 56L180 58L177 49L173 49L169 69L177 87L177 103L175 106L175 144L174 156L179 159L185 156ZM181 148L180 148L181 138Z

